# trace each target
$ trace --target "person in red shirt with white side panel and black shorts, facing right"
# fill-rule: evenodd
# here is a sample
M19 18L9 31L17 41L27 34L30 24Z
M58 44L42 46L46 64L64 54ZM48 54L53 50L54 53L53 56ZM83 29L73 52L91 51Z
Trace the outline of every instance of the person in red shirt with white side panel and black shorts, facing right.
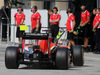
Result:
M75 27L75 16L72 14L72 10L69 8L67 9L67 14L68 14L68 19L67 19L67 23L66 23L66 27L67 27L67 39L68 39L68 47L70 49L71 45L74 46L75 42L74 42L74 27Z

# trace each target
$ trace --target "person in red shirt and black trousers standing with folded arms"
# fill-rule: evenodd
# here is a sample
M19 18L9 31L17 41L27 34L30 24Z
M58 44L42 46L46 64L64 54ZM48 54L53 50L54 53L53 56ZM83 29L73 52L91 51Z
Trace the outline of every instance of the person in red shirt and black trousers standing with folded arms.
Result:
M54 7L53 8L53 14L50 16L49 22L51 23L50 25L50 30L52 34L52 42L54 42L54 38L56 38L58 32L59 32L59 21L61 19L61 15L57 13L58 8Z

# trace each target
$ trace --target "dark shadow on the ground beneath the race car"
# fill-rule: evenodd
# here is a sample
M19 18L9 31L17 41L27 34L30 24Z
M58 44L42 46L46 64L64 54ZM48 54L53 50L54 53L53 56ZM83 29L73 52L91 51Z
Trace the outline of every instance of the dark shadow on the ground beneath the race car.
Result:
M92 67L92 66L88 66L88 65L84 65L84 66L73 66L73 64L71 64L69 70L80 70L82 67ZM21 67L19 69L32 69L32 70L66 70L66 69L57 69L55 66L51 65L51 64L33 64L33 65L28 65L25 67Z

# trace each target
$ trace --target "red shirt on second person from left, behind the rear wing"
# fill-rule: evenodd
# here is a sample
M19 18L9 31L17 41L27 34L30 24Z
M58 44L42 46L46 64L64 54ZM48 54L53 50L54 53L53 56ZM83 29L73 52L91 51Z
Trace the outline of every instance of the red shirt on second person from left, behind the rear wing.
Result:
M32 29L37 27L37 20L40 20L40 19L41 19L41 15L38 12L36 12L35 14L31 15L31 26L32 26ZM39 25L41 26L40 22L39 22Z

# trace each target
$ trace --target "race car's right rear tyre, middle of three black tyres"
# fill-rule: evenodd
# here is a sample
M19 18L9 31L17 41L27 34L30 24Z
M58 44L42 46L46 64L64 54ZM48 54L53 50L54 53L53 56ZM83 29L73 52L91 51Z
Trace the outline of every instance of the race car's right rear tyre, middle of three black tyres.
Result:
M69 50L67 48L58 47L56 52L56 67L58 69L68 69L70 64Z

